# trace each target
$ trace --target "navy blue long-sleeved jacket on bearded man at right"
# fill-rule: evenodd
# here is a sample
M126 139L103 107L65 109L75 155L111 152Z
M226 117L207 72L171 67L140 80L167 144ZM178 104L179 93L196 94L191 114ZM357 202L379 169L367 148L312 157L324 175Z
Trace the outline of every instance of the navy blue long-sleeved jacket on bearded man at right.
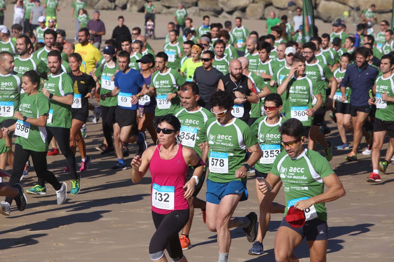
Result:
M357 64L352 64L346 69L346 73L341 87L350 86L350 104L352 106L368 106L369 90L374 86L379 71L370 64L361 70L357 68Z

